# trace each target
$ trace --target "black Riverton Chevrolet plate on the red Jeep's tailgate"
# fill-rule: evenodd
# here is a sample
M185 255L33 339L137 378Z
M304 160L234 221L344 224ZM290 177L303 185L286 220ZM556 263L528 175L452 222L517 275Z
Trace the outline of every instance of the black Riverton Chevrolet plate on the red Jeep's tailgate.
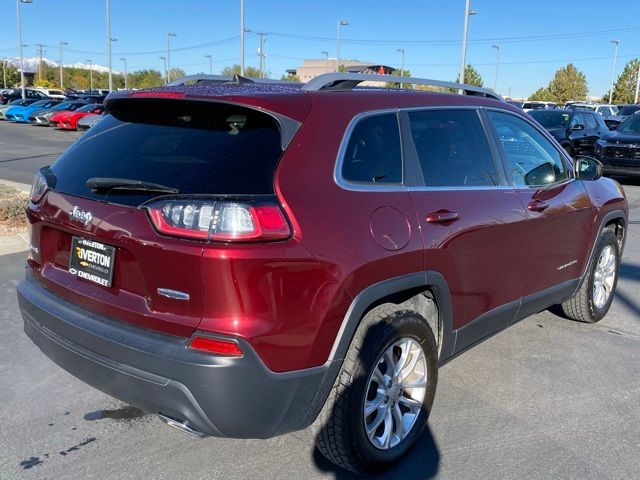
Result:
M116 247L104 243L73 237L69 256L69 273L103 287L110 287Z

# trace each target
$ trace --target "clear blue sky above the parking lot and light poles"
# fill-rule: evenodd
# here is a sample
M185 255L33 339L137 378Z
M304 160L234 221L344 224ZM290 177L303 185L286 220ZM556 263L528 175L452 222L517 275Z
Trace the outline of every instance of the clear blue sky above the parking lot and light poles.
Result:
M112 0L114 69L126 57L129 70L161 68L158 56L172 39L172 66L187 73L214 73L239 63L239 0ZM2 0L0 56L17 57L15 2ZM45 56L58 59L58 42L69 42L65 64L106 65L105 0L33 0L22 5L26 57L33 45L49 45ZM498 91L527 96L548 83L554 71L573 62L588 79L590 95L609 88L613 45L619 39L617 73L629 59L640 57L640 2L612 0L474 0L467 60L493 86L495 50L500 45ZM280 77L303 58L336 53L336 22L343 27L341 57L399 66L398 48L415 76L454 80L460 62L464 0L246 0L246 26L273 32L265 43L267 70ZM609 13L611 12L611 13ZM290 36L287 36L290 35ZM538 38L531 38L538 37ZM257 66L257 37L247 34L246 64Z

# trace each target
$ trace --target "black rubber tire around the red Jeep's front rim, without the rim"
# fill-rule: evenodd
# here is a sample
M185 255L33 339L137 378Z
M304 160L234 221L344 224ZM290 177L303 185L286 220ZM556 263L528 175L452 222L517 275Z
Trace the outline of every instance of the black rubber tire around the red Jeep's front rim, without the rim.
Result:
M600 258L600 254L608 245L613 247L613 251L615 252L616 256L615 277L613 281L613 288L607 302L601 308L598 308L593 300L594 275L598 259ZM611 229L605 228L604 230L602 230L602 232L600 232L600 236L597 240L596 248L594 250L593 258L591 259L587 272L582 279L580 288L572 298L561 304L564 314L570 319L576 320L578 322L596 323L602 320L602 318L609 311L609 307L611 307L611 302L613 301L613 296L616 291L616 285L618 284L618 273L620 270L619 267L620 245L618 244L618 238Z

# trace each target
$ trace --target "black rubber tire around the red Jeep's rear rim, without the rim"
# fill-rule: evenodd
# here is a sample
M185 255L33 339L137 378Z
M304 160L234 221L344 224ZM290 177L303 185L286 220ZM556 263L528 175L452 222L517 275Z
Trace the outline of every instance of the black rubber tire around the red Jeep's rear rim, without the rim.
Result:
M416 340L425 355L427 386L423 405L407 436L388 450L375 448L365 432L363 408L369 375L385 350L401 338ZM438 382L437 348L427 321L411 310L380 306L356 330L342 368L312 428L320 452L355 473L383 468L405 455L427 424Z

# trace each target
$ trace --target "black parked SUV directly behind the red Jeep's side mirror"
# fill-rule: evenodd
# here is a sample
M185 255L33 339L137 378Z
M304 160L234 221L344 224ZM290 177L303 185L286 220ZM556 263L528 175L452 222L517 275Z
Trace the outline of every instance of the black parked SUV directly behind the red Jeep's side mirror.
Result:
M546 128L570 156L592 153L598 138L609 131L602 116L593 110L535 110L529 115Z

